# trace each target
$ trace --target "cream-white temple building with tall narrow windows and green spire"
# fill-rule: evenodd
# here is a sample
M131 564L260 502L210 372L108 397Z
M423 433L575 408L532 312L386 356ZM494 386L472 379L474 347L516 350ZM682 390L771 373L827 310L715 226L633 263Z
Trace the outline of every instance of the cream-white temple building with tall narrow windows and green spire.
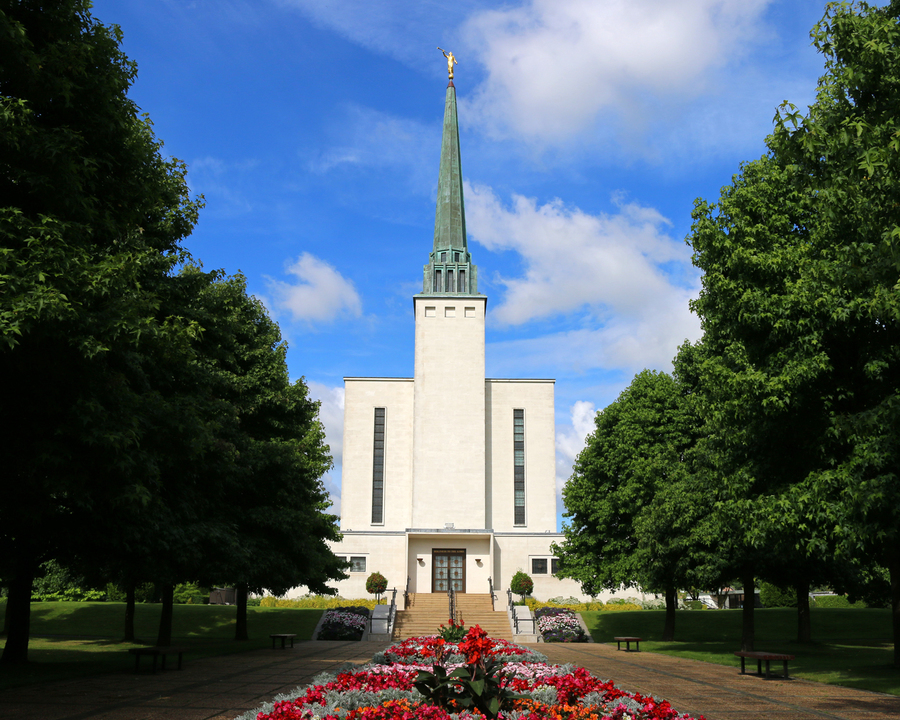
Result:
M434 242L413 296L413 377L344 378L343 541L336 584L381 572L413 593L487 593L517 570L534 596L583 597L555 577L554 381L485 378L487 296L466 239L456 89L447 86Z

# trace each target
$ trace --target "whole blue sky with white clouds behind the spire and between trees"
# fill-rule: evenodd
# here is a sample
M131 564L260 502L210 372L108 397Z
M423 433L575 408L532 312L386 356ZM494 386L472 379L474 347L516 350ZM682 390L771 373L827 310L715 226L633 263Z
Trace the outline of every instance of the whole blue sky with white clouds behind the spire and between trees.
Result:
M409 377L457 56L487 375L556 378L557 486L594 413L699 337L684 238L805 107L823 0L100 0L131 97L322 401L340 503L345 376ZM562 512L562 507L558 508Z

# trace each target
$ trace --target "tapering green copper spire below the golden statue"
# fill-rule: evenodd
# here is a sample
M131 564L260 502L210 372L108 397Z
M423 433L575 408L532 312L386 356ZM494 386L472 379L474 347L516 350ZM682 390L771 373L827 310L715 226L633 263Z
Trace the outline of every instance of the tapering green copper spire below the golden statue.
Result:
M434 246L425 266L426 295L478 293L477 268L466 242L466 209L463 203L462 167L459 158L459 123L456 118L456 88L447 85L444 103L444 136L441 140L441 170L438 176Z

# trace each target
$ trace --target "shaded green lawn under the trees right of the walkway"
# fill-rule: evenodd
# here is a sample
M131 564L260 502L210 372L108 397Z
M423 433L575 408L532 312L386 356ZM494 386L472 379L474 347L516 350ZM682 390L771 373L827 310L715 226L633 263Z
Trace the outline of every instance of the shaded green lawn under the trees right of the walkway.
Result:
M900 695L900 669L893 665L888 610L815 609L811 616L813 642L803 644L796 641L796 610L763 609L754 614L755 647L795 655L789 664L791 675ZM641 650L740 667L734 655L741 643L741 613L737 610L679 611L676 641L667 643L662 642L663 610L581 615L596 642L636 635L644 639Z

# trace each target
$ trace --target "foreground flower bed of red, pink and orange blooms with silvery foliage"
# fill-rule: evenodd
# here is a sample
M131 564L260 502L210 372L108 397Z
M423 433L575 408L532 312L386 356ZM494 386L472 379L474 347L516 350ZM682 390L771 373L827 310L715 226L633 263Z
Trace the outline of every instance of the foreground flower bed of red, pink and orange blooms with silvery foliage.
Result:
M626 692L584 668L550 665L539 653L488 638L477 626L455 645L433 637L404 641L372 663L348 663L336 673L322 673L312 685L236 720L485 720L481 712L462 706L464 682L444 698L446 707L419 691L424 674L467 668L474 678L476 665L483 669L485 661L488 668L499 667L495 677L507 696L498 720L693 720L666 701Z

